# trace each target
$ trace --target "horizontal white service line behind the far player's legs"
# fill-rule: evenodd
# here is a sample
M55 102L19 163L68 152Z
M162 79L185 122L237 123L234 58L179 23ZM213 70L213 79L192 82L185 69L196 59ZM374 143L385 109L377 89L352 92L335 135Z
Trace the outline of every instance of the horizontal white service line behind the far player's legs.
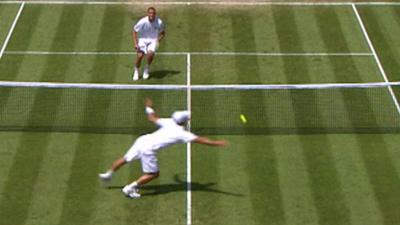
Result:
M136 52L48 52L48 51L6 51L10 55L136 55ZM370 52L157 52L157 55L212 55L212 56L373 56Z

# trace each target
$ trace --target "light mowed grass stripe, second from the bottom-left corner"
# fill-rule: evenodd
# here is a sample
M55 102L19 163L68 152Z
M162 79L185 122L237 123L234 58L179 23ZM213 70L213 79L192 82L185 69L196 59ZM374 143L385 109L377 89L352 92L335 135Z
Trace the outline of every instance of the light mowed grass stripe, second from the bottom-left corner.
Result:
M82 18L82 7L79 8L70 8L70 7L62 7L60 11L60 20L58 21L57 29L54 35L54 39L52 40L52 44L50 49L51 50L57 50L59 43L61 40L63 40L64 37L68 37L68 41L64 42L64 45L68 48L73 48L76 42L76 33L77 30L79 29L79 25L81 23L81 18ZM73 24L73 27L70 27L70 24ZM66 29L67 28L67 29ZM44 81L51 81L51 80L57 80L58 82L62 82L65 80L65 76L67 71L70 68L70 62L71 58L63 59L60 60L58 57L47 57L46 58L46 63L45 63L45 69L41 74L40 80ZM57 74L53 74L53 71L57 71ZM55 77L56 76L56 77ZM42 93L41 99L48 99L45 96L52 96L52 99L45 104L50 104L51 106L45 106L44 108L57 108L57 104L62 105L64 101L64 91L63 90L55 90L55 91L48 91L46 89L40 89L38 90L39 93ZM59 111L54 111L53 110L46 110L43 112L38 112L37 116L43 116L44 113L50 113L46 117L51 117L53 118L53 121L60 120L60 115L62 115L62 112ZM62 118L61 118L62 120ZM38 119L40 121L40 119ZM41 124L37 124L37 126L40 126ZM49 124L51 126L51 123ZM48 133L49 137L51 140L57 139L57 138L63 138L62 135L55 135L52 133ZM48 223L48 224L57 224L59 221L59 218L61 216L61 211L62 211L62 201L60 199L63 199L65 196L66 192L66 183L65 180L69 177L70 175L70 166L72 164L72 158L73 158L73 153L75 150L75 144L78 140L78 138L75 135L75 138L72 137L72 142L69 142L67 140L65 141L58 141L55 140L53 141L55 145L65 145L68 148L66 152L64 152L64 157L63 159L67 160L64 162L63 167L61 169L57 169L59 171L57 173L57 177L52 178L51 174L46 174L47 171L54 171L54 169L49 169L48 166L54 166L54 164L51 165L51 162L54 161L54 158L57 158L57 155L52 155L50 154L48 157L53 157L52 159L48 159L44 163L45 169L41 171L39 175L39 179L44 179L43 183L39 183L37 185L37 189L35 191L35 195L32 201L32 205L29 210L29 215L30 217L28 218L29 220L27 221L27 224L35 224L35 223ZM68 143L68 144L66 144ZM72 143L72 144L71 144ZM61 148L62 149L62 148ZM57 149L60 150L60 149ZM56 151L57 151L56 150ZM51 151L51 150L50 150ZM53 152L52 152L53 153ZM61 156L58 156L61 157ZM59 161L59 160L56 160ZM48 163L47 163L48 162ZM62 163L62 160L59 161ZM50 165L49 165L50 164ZM48 169L48 170L46 170ZM56 182L57 183L52 183ZM51 190L49 190L51 189ZM47 190L47 192L46 192ZM53 212L51 214L47 214L46 212Z

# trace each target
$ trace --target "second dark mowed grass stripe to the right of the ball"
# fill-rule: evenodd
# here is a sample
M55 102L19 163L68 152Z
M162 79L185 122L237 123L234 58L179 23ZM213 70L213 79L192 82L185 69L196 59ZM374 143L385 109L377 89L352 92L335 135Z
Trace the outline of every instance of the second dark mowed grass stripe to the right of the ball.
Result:
M300 45L298 30L293 9L288 7L285 13L273 8L276 31L279 37L280 48L283 52L293 49L292 45ZM331 18L327 18L331 19ZM287 29L291 30L291 37L282 35ZM290 40L289 40L290 39ZM301 52L301 51L300 51ZM310 83L309 72L303 58L287 63L284 59L284 70L289 82L296 81L292 74L302 74L302 82ZM318 108L304 109L301 104L304 99L309 99L310 104L315 105L317 92L293 90L290 92L294 110L296 126L301 126L305 118L320 120L321 115ZM311 114L311 115L310 115ZM339 183L338 174L335 169L334 159L331 153L331 146L326 135L321 135L319 139L310 142L310 139L300 135L300 142L304 151L307 170L311 180L311 190L314 203L318 213L320 224L349 224L349 212L344 203L344 196Z

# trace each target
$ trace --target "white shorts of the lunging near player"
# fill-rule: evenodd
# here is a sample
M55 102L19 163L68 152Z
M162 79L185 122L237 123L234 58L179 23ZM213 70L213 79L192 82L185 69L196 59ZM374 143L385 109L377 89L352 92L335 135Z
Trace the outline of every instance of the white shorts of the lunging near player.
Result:
M140 138L124 155L126 162L140 160L143 173L157 173L159 171L156 154L147 150Z

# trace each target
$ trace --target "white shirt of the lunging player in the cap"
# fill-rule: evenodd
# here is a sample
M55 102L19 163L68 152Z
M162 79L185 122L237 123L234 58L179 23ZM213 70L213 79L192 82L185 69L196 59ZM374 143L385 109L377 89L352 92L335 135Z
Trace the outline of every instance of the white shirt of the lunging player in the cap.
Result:
M159 126L158 130L143 135L136 141L142 153L154 153L172 144L187 143L197 138L195 134L176 124L173 119L158 119L156 123Z

